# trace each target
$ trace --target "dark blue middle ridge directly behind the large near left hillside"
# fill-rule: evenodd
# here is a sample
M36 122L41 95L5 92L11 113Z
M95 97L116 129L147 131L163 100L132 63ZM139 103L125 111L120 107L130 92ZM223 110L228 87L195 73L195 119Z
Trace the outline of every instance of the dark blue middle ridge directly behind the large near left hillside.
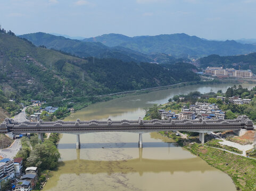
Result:
M36 46L45 46L49 49L61 50L79 57L116 58L124 62L154 62L159 59L161 62L175 60L168 55L146 55L139 51L125 47L108 47L101 42L82 42L61 36L54 36L43 32L23 34L20 38L26 38Z

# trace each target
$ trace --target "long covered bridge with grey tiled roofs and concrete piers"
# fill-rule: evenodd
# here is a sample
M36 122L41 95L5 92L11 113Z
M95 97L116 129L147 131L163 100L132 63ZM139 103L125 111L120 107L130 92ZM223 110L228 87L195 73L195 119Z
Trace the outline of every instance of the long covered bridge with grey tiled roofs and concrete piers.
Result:
M81 121L24 121L18 123L13 119L6 118L0 126L0 133L38 133L43 141L43 133L70 133L77 135L77 149L80 149L80 134L95 132L131 132L139 133L138 145L142 148L142 134L159 131L187 131L200 133L200 141L204 143L204 133L216 131L240 131L241 129L252 130L253 123L247 116L238 116L236 119L216 120L120 120L106 121L90 120Z

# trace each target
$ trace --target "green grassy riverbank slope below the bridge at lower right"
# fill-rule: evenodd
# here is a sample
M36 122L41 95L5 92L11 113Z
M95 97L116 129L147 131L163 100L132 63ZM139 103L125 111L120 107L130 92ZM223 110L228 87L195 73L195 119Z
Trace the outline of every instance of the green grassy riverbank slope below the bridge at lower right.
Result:
M237 190L256 190L256 160L197 143L189 144L186 149L211 166L227 173L234 181Z

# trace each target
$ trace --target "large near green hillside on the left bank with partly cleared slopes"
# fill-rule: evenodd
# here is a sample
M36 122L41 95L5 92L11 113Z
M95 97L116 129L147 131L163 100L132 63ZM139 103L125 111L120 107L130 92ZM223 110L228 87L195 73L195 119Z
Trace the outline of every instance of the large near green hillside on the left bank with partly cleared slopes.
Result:
M176 73L177 68L113 58L81 59L0 34L0 89L28 100L54 101L200 80L191 70Z

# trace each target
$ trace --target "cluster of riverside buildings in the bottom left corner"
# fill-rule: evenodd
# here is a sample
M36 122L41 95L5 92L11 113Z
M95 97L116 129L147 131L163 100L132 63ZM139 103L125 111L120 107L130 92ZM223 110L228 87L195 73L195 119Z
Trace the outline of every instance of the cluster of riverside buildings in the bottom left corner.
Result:
M29 191L34 188L38 179L37 167L28 167L23 175L22 168L22 158L2 159L0 161L0 185L4 181L11 180L13 190Z

